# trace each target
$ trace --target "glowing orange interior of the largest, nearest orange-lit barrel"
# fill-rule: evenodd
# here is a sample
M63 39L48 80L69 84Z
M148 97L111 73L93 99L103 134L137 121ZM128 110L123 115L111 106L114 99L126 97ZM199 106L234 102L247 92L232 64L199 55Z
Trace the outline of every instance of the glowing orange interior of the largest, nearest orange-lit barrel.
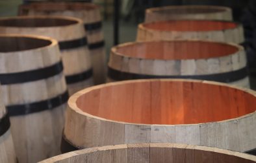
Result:
M255 111L256 98L231 87L201 82L148 80L93 89L77 98L83 112L136 124L199 124Z

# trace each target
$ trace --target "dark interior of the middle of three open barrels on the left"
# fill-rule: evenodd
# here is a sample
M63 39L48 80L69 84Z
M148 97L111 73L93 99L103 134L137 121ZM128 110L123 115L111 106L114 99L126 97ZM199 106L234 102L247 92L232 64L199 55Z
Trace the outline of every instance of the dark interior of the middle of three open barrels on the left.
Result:
M61 27L78 21L57 17L14 17L0 20L0 27Z

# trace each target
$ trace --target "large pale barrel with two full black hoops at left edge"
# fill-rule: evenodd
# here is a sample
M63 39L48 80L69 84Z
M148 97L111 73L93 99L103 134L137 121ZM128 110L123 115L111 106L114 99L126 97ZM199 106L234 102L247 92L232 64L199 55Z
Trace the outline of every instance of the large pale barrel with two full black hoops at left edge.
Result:
M0 45L1 91L19 162L58 155L68 101L58 42L0 35Z

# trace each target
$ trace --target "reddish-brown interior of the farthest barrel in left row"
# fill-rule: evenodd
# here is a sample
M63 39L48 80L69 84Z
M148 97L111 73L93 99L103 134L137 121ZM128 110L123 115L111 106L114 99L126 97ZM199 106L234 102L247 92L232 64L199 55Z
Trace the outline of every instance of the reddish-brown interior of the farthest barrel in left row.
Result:
M79 2L39 2L28 5L21 5L22 10L38 10L38 11L65 11L65 10L95 10L97 5L91 3Z

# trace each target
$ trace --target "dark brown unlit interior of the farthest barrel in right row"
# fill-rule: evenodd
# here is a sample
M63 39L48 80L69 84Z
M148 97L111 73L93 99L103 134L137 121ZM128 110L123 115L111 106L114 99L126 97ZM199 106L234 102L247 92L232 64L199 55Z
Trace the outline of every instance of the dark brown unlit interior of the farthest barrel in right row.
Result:
M156 10L151 10L151 12L156 12L160 14L211 14L216 12L225 12L224 8L211 8L209 6L199 7L199 6L181 6L181 7L166 7L157 8Z

